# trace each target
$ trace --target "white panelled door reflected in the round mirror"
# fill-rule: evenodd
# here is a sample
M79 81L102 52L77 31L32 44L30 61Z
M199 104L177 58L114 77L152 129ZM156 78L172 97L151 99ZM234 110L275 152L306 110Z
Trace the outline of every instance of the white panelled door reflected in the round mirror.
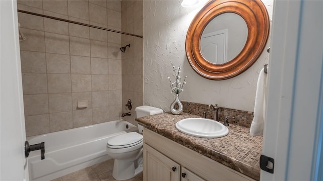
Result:
M205 33L201 37L201 51L204 58L214 64L228 61L228 29Z

